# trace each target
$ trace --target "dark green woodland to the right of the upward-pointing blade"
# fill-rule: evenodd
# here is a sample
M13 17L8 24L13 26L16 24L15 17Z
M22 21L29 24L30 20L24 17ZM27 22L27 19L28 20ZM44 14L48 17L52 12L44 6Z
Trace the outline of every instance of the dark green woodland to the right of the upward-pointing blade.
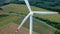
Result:
M60 11L60 0L32 0L30 3L48 10Z

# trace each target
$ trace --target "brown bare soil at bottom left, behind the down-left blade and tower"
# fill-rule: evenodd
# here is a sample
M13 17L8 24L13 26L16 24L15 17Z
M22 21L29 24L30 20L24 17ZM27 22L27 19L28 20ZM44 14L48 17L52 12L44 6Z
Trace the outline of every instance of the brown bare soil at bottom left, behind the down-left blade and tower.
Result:
M10 23L10 24L0 28L0 34L14 34L17 27L18 27L17 24ZM22 27L17 32L17 34L29 34L29 30L27 28ZM33 34L37 34L37 33L33 32Z

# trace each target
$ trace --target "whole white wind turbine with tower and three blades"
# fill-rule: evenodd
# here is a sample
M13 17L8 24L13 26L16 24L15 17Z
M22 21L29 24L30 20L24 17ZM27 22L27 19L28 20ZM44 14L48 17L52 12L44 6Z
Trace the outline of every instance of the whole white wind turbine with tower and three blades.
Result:
M30 17L30 33L29 34L33 33L33 31L32 31L33 30L33 28L32 28L33 27L33 14L60 14L60 12L32 11L31 8L30 8L30 4L29 4L28 0L24 0L24 1L26 3L27 8L28 8L28 10L29 10L30 13L23 19L23 21L21 22L21 24L19 25L19 27L17 28L17 30L14 32L14 34L16 34L18 32L18 30L22 27L22 25L25 23L25 21L28 19L28 17ZM46 25L49 26L49 27L51 27L51 28L53 28L52 26L50 26L48 24L46 24Z

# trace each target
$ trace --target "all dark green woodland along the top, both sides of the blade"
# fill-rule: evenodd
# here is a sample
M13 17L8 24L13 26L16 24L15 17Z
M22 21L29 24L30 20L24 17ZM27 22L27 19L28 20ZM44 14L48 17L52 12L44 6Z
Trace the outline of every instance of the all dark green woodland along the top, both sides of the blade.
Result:
M29 2L33 6L53 11L60 11L60 0L29 0ZM25 4L23 0L0 0L0 6L9 3Z

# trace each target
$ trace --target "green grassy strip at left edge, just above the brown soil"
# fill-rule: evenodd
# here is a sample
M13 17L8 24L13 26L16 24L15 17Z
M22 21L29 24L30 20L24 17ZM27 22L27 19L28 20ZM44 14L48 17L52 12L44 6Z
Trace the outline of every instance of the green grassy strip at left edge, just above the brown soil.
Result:
M0 19L0 27L6 25L8 23L13 23L18 18L20 18L20 17L17 17L17 16L8 16L8 17Z

